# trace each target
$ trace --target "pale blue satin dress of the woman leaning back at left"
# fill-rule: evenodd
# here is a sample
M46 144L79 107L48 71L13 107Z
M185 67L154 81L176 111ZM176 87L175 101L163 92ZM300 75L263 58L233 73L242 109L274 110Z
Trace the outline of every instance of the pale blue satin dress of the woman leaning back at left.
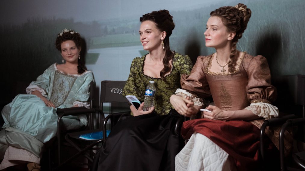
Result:
M11 103L4 106L2 117L5 121L0 131L0 160L8 145L23 148L41 158L44 144L56 136L57 108L74 105L88 106L89 86L93 80L91 71L81 75L65 74L57 70L56 64L31 82L28 94L17 95ZM39 91L49 99L56 108L48 107L36 95ZM77 129L87 124L84 116L67 116L63 118L63 128Z

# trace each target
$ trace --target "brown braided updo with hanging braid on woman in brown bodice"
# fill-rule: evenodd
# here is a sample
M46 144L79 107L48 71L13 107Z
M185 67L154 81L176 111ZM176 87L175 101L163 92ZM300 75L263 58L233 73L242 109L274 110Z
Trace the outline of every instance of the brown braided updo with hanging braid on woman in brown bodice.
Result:
M210 13L210 16L220 17L222 23L227 27L229 32L235 32L235 37L232 40L231 61L228 64L229 72L235 71L236 61L238 58L238 52L236 50L236 44L240 38L242 38L242 33L247 28L247 24L251 17L251 10L247 8L246 5L239 3L235 6L224 6L215 9Z

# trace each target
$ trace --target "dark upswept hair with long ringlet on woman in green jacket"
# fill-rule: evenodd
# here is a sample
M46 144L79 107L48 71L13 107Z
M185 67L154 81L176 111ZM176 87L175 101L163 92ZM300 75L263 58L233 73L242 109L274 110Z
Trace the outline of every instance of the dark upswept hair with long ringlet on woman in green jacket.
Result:
M161 79L164 80L165 74L170 72L171 70L169 61L173 59L173 52L170 50L169 41L169 37L175 28L173 16L170 15L170 12L168 10L163 9L159 11L152 11L140 17L141 22L147 20L154 22L159 31L166 32L166 37L163 40L165 50L165 57L163 58L164 68L160 71Z

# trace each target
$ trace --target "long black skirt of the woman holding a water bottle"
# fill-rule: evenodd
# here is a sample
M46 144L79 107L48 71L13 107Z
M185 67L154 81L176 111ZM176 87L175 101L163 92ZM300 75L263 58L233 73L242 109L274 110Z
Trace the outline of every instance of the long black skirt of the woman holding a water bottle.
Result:
M175 124L179 115L156 113L119 121L98 150L91 171L175 170L175 156L184 146Z

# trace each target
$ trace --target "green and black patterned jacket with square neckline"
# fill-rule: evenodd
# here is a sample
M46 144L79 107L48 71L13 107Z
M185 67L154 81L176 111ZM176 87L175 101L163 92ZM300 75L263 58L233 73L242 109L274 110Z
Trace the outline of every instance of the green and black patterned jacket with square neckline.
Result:
M152 78L144 74L143 67L146 55L142 56L142 58L136 57L133 59L129 77L123 90L123 96L133 95L142 102L144 101L144 93L149 81L155 81L155 111L158 115L166 115L169 113L170 108L173 107L170 104L170 96L174 94L178 88L181 88L181 75L190 74L193 64L189 56L183 56L174 52L172 71L165 76L166 81L163 81L161 78Z

